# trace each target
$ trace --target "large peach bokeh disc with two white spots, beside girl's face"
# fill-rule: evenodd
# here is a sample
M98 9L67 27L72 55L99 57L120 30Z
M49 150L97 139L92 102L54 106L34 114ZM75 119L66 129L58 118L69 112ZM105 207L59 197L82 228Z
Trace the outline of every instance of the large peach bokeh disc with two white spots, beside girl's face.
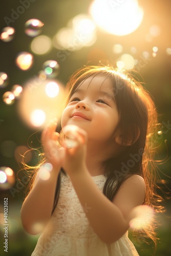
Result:
M31 127L44 126L54 117L60 119L65 102L65 87L58 80L28 80L19 99L18 111L22 119Z

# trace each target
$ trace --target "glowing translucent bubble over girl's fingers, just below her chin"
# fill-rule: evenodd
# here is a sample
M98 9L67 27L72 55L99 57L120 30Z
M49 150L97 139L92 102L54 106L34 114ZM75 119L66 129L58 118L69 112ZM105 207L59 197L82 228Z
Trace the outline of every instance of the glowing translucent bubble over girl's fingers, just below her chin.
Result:
M76 147L78 145L78 127L76 125L66 125L59 134L59 143L63 147Z

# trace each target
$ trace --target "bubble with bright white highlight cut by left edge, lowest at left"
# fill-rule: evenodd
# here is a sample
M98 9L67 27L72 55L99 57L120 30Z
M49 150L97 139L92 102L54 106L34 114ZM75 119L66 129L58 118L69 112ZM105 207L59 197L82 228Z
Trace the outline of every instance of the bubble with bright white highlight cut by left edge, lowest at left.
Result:
M15 183L15 175L10 167L0 167L0 189L8 189Z

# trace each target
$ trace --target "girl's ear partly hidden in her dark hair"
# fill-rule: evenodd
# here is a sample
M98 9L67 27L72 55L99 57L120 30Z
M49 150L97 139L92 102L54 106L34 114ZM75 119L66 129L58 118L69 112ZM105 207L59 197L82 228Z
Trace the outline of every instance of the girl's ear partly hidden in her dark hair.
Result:
M131 146L138 140L139 136L140 136L140 129L138 126L136 126L136 129L135 129L135 126L134 126L134 129L133 127L130 127L130 129L128 129L127 139L126 141L124 141L124 144L123 144L123 137L120 130L118 130L115 134L115 142L118 145Z

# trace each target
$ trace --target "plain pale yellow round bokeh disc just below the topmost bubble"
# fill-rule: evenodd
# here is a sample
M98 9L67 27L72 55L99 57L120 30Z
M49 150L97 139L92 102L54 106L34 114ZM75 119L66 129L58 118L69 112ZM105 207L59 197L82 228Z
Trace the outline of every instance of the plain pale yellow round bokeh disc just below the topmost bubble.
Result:
M39 35L35 37L31 42L31 50L35 54L46 54L51 50L52 41L46 35Z

